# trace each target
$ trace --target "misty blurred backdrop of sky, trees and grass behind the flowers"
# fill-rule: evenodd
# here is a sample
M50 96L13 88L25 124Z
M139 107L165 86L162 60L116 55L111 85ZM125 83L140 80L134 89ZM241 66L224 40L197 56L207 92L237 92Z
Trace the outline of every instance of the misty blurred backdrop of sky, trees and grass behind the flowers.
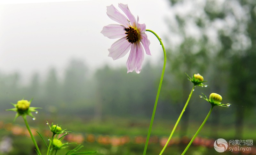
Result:
M31 106L43 108L40 115L36 114L37 125L48 120L75 133L146 136L163 51L156 37L146 32L152 56L145 56L140 74L126 74L128 55L115 61L108 57L108 48L116 40L104 37L100 31L116 23L106 15L106 6L118 7L118 3L128 4L133 15L161 37L166 48L167 66L153 136L169 136L193 86L185 73L199 73L208 87L196 87L174 136L194 135L211 107L199 95L209 97L215 92L222 96L222 103L232 105L214 107L199 136L256 140L256 2L250 0L0 5L3 123L14 117L14 113L4 111L12 108L9 103L16 104L24 97L33 98ZM22 124L19 120L15 123ZM159 143L151 144L148 153L159 153ZM98 143L86 145L108 150L99 154L123 154L125 149L127 154L141 154L144 148L143 144L131 144L113 151ZM180 154L185 146L176 144L166 152ZM213 144L211 148L191 148L188 154L218 154Z

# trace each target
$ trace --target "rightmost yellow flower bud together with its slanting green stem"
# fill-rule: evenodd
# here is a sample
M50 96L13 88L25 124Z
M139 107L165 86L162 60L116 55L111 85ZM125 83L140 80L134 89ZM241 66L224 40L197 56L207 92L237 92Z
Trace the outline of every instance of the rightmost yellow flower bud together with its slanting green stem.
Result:
M203 93L202 93L203 94ZM204 94L203 94L204 95ZM193 143L193 141L195 140L196 136L199 134L199 132L201 131L201 129L204 127L204 124L205 122L208 120L211 112L212 112L212 109L215 105L217 106L223 106L223 107L229 107L231 104L221 104L221 101L222 101L222 97L217 94L217 93L212 93L210 94L210 97L209 99L204 95L204 97L202 97L200 95L201 98L204 98L204 100L206 100L207 102L209 102L212 106L211 106L211 109L210 111L208 112L207 116L205 117L203 123L201 124L201 126L198 128L198 130L196 131L195 135L193 136L193 138L191 139L191 141L188 143L188 146L185 148L185 150L182 152L181 155L184 155L187 151L188 151L188 148L190 147L190 145Z

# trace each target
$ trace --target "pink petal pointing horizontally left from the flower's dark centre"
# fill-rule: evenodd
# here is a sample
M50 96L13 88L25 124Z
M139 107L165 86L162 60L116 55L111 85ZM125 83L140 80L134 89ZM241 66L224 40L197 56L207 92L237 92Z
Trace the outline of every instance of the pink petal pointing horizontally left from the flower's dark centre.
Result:
M124 26L119 24L109 24L104 26L100 32L109 39L123 38L126 36Z

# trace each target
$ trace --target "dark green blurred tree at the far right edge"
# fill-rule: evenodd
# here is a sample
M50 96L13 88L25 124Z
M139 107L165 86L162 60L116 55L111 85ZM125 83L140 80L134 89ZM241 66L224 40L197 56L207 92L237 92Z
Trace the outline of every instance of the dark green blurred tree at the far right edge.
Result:
M233 41L232 49L235 54L230 65L228 95L232 102L237 105L236 137L241 137L243 135L246 112L252 111L252 107L255 107L256 1L239 0L238 3L246 13L246 18L240 19L236 25L234 33L237 37L235 39L234 36L230 37ZM233 13L236 15L237 12L233 11ZM245 30L244 33L241 32L241 27Z

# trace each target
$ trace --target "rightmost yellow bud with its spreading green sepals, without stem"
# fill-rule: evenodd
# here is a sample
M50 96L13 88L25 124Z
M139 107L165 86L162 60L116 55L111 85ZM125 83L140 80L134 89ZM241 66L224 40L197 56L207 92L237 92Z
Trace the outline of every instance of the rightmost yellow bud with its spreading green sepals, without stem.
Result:
M201 97L204 100L206 100L207 102L209 102L212 106L217 105L217 106L229 107L231 105L231 104L222 104L221 103L222 97L217 93L210 94L210 96L209 96L210 99L208 99L205 95L204 95L204 97L199 95L199 97Z

